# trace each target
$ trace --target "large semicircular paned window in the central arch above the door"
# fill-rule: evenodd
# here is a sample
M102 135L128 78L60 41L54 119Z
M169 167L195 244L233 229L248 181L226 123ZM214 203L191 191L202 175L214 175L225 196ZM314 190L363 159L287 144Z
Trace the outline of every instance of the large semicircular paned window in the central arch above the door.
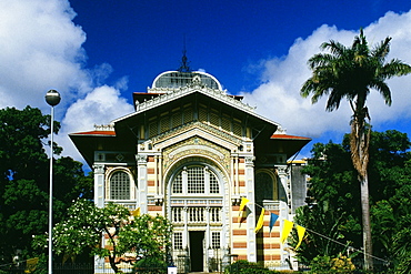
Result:
M220 194L220 184L215 174L207 166L188 166L174 177L172 194Z

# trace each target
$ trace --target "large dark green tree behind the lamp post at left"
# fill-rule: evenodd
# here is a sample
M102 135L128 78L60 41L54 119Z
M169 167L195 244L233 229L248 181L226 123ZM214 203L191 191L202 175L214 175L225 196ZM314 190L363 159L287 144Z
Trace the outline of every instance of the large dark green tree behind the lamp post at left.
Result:
M54 133L60 124L56 122ZM42 235L48 225L49 159L44 150L50 134L50 115L39 109L0 110L0 262L11 263L34 255L33 235ZM61 148L54 144L54 153ZM90 195L91 177L82 164L60 158L54 164L54 220L63 215L71 201Z

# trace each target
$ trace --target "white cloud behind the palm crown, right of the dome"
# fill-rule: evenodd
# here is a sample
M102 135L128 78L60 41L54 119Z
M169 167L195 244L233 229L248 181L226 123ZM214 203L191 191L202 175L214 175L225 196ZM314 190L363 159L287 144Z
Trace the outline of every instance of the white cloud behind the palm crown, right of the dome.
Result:
M398 58L411 63L411 11L403 14L388 12L379 21L364 28L365 37L371 44L385 37L392 37L391 53L388 60ZM262 84L251 93L243 93L244 102L257 106L257 112L277 121L287 128L290 134L318 138L325 132L349 132L351 110L342 102L334 112L325 112L327 98L317 104L310 99L300 97L303 82L311 72L307 61L320 52L320 44L335 40L350 47L358 32L338 30L335 27L322 26L308 38L299 38L281 59L262 60ZM389 108L381 95L371 92L369 109L372 123L379 125L388 121L410 118L411 75L389 80L393 103Z

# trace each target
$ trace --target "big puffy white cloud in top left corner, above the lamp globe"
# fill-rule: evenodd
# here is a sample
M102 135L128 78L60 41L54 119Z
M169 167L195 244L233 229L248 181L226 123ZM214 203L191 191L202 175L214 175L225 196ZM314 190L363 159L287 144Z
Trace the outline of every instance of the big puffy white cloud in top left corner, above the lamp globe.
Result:
M86 33L74 16L64 0L0 2L0 108L41 108L49 89L69 104L87 91Z

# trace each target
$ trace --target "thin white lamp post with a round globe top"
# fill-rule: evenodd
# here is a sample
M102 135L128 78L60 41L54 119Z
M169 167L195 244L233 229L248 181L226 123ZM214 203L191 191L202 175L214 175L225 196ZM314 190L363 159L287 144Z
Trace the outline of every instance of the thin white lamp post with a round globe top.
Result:
M60 103L60 93L56 90L49 90L46 94L46 102L51 105L50 123L50 190L49 190L49 274L52 268L52 232L53 232L53 125L54 125L54 106Z

